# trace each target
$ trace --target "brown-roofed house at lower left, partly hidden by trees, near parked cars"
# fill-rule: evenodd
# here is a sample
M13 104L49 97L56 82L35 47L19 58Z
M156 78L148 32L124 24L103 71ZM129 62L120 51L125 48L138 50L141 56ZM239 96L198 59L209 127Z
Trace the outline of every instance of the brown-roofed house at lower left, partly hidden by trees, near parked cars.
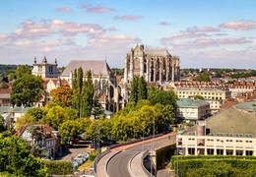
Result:
M59 133L49 125L37 124L24 126L19 132L19 137L26 140L31 146L36 143L37 145L46 148L49 158L62 155Z

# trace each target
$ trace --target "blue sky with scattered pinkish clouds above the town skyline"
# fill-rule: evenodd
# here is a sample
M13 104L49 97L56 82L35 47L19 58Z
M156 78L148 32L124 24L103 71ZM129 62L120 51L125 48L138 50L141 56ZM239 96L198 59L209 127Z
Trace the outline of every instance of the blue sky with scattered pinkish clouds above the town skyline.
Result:
M1 0L0 64L46 56L124 68L137 44L181 68L256 69L255 0Z

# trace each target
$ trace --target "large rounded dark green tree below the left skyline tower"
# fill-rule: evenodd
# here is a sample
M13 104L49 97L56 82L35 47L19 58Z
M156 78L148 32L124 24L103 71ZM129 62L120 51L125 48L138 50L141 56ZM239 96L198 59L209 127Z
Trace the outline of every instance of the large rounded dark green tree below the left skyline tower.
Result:
M33 75L24 75L13 84L11 102L18 106L32 106L44 93L42 80Z

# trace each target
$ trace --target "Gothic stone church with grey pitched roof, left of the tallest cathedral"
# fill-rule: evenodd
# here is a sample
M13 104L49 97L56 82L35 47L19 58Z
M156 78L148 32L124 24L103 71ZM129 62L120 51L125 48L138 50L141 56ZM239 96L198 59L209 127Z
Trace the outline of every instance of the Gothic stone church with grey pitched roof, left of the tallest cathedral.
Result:
M115 112L124 106L120 96L120 88L106 61L72 60L61 74L61 80L66 80L72 88L72 75L80 67L85 73L91 70L95 94L98 96L98 102L102 108Z

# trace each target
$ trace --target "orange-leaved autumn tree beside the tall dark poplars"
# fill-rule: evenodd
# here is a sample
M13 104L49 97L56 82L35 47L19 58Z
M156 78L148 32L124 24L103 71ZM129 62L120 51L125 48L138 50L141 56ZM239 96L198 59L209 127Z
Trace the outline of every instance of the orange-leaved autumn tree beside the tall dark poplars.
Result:
M70 87L59 87L57 89L52 89L50 95L52 96L52 102L63 106L72 105L72 89Z

